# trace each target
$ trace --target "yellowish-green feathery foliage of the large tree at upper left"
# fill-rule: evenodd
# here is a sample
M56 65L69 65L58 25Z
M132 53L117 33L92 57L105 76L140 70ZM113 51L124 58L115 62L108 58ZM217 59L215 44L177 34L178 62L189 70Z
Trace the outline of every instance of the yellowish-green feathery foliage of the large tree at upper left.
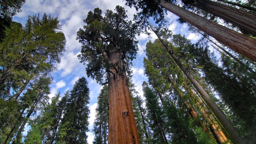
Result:
M42 19L39 15L28 16L25 27L13 23L7 29L0 43L1 97L11 98L11 90L20 95L29 81L52 72L60 63L65 36L59 31L59 23L57 18L44 14Z

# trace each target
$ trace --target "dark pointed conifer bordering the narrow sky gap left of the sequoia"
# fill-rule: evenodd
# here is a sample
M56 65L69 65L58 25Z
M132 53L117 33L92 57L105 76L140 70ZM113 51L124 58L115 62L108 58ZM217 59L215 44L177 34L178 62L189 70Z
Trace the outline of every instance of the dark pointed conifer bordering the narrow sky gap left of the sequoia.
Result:
M85 77L78 79L67 98L57 143L86 144L89 118L89 88Z

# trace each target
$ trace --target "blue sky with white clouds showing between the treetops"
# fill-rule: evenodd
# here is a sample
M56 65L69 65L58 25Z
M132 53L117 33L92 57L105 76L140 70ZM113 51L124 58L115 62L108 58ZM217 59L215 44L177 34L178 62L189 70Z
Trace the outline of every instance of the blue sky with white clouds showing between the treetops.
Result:
M37 15L40 13L42 16L44 13L52 17L58 17L61 21L62 31L65 34L66 52L61 58L61 63L58 65L58 69L52 73L53 84L51 85L50 97L54 96L56 93L61 92L61 95L65 93L68 89L72 89L73 84L80 77L84 76L87 78L90 89L90 125L89 128L92 129L93 120L95 119L95 108L97 106L97 96L102 88L95 80L88 78L85 72L85 65L79 63L77 55L80 53L81 44L76 40L76 32L79 28L82 28L84 23L83 20L87 17L89 11L93 11L94 8L99 7L103 13L107 9L114 10L116 5L121 5L125 7L125 1L122 0L26 0L26 3L21 8L22 12L18 13L13 17L13 21L19 22L22 25L26 23L28 15ZM134 8L125 7L128 11L128 19L133 19L133 14L136 13ZM188 26L186 24L180 25L176 19L177 16L172 13L168 13L166 18L169 20L169 29L172 30L173 34L185 35L192 42L199 39L199 36L187 32ZM155 35L148 37L145 34L137 36L139 41L138 47L139 51L137 53L137 58L133 60L133 83L136 86L136 90L143 95L141 90L141 84L143 81L147 81L147 77L144 75L143 68L143 57L145 57L145 45L151 40L156 39ZM92 144L93 133L88 132L88 142Z

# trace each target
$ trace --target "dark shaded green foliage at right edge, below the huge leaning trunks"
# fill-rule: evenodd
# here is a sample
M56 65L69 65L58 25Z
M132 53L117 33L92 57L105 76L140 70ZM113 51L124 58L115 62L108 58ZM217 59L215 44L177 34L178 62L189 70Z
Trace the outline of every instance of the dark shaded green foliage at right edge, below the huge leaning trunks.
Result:
M233 114L239 117L239 120L235 120L237 118L233 117L234 119L231 121L235 122L235 127L244 129L245 133L242 132L241 135L248 135L249 139L254 137L255 127L253 125L256 125L255 75L247 71L245 64L241 65L226 55L222 55L223 67L220 67L208 48L194 48L190 49L190 52L196 56L197 63L202 67L208 83L219 92L221 99ZM239 124L238 121L245 123ZM253 141L253 139L251 140Z

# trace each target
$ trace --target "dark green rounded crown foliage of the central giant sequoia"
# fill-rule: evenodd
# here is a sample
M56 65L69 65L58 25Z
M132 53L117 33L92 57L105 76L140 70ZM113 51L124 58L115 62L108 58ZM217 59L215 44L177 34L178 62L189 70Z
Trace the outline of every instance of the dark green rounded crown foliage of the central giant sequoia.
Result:
M136 29L132 21L125 20L125 9L116 6L115 12L107 10L104 17L101 13L99 8L95 8L94 13L88 12L84 29L77 32L77 39L83 44L78 59L87 65L87 75L99 83L103 83L105 72L117 66L118 71L125 72L128 63L123 64L124 60L131 65L138 50L134 41ZM119 55L118 61L111 62L113 53Z

